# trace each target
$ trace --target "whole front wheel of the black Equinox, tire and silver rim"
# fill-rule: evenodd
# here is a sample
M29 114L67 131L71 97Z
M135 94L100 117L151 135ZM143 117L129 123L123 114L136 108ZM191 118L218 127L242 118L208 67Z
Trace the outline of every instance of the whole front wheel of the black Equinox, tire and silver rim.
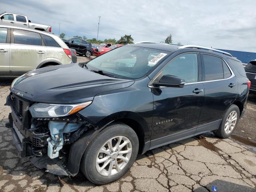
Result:
M90 182L102 185L121 178L136 160L139 141L126 124L99 132L82 156L80 170Z

